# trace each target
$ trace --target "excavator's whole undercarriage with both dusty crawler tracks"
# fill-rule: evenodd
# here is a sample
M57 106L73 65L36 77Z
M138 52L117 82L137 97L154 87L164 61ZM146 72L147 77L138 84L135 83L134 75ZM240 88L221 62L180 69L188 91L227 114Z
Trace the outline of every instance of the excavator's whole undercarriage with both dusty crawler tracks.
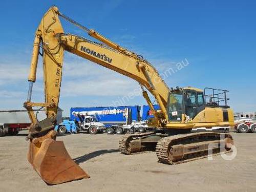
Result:
M178 134L176 131L174 134L166 130L161 133L125 134L119 141L119 150L125 155L156 151L158 161L165 164L178 164L231 152L233 139L228 133L181 132Z

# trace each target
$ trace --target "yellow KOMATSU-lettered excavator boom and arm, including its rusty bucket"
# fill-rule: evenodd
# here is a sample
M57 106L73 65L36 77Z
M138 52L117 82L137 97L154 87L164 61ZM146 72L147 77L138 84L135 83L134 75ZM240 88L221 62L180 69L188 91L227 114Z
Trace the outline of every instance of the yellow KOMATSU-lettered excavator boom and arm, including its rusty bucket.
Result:
M98 39L101 43L77 35L65 34L59 16L86 30L90 36ZM88 30L79 25L60 13L57 7L51 7L42 17L41 23L35 32L28 78L28 98L24 103L31 120L27 137L30 140L28 160L48 184L58 184L90 177L71 159L63 142L55 141L56 132L54 131L54 126L57 120L65 50L136 80L139 82L143 96L157 119L157 124L164 126L167 117L166 105L169 89L149 62L143 59L142 56L106 39L94 30ZM33 83L36 81L39 54L42 55L43 62L45 102L37 103L31 101L31 95ZM160 111L154 110L153 104L144 88L156 98ZM33 111L35 106L46 109L46 119L37 121Z

